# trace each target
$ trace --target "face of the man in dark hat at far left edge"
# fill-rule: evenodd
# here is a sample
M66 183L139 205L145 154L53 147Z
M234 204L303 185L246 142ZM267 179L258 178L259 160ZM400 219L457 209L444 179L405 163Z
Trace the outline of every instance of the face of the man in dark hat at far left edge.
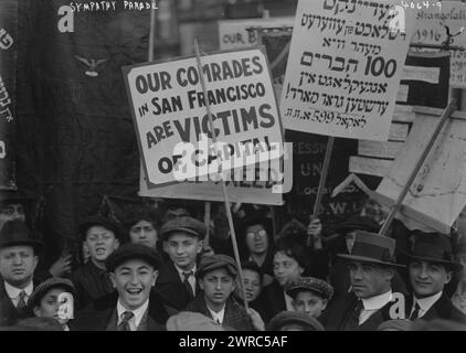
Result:
M28 286L36 266L38 257L32 246L18 245L0 249L0 274L13 287Z

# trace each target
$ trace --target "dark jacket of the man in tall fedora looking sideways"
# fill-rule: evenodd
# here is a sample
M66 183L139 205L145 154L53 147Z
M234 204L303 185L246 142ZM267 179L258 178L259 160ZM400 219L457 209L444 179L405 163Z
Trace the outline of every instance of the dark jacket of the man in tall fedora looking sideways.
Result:
M319 321L327 331L345 331L345 324L353 313L357 302L358 298L353 293L336 298L319 317ZM353 331L375 331L382 322L391 320L390 308L393 302L386 303Z

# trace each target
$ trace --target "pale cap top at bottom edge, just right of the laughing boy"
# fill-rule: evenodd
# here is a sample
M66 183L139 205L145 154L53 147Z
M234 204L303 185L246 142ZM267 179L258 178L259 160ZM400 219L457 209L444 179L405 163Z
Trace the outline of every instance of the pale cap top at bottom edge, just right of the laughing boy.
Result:
M181 311L167 321L167 331L224 331L213 319L199 312Z

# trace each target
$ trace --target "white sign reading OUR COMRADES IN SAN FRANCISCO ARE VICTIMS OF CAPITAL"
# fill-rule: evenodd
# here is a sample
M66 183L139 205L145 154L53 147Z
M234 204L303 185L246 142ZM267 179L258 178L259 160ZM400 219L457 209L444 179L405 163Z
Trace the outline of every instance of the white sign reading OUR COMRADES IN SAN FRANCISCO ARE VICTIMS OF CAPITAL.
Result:
M282 125L266 56L258 49L124 68L148 189L279 158ZM209 126L205 101L218 145ZM220 153L218 153L220 151Z

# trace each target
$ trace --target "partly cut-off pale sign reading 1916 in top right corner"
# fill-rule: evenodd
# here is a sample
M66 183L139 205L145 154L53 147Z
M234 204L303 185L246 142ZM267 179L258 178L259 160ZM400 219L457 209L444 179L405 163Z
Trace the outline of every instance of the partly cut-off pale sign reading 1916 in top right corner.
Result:
M415 0L422 4L426 1ZM410 11L410 8L406 9ZM447 30L452 35L452 46L466 49L466 3L462 1L442 1L438 7L421 6L417 10L416 25L412 43L444 45ZM462 32L463 29L463 32ZM466 88L466 51L451 51L449 84L455 88Z

